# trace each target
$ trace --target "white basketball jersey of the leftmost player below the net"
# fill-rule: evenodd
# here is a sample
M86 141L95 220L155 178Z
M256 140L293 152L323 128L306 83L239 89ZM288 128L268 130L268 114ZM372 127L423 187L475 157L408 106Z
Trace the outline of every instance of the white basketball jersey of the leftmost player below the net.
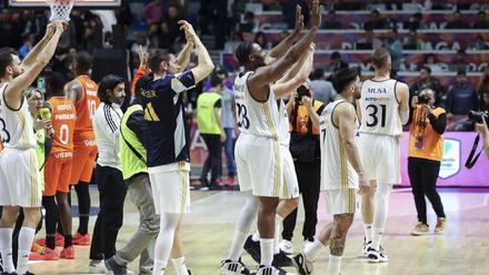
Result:
M0 139L7 149L36 149L36 134L32 115L26 96L19 111L10 110L4 102L8 84L0 85Z

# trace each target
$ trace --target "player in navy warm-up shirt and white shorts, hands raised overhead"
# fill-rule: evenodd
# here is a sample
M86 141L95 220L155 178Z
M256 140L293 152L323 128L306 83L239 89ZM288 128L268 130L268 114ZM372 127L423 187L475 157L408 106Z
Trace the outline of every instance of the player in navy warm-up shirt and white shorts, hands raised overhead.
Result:
M148 173L156 212L160 214L153 275L164 274L170 251L178 275L189 274L180 238L181 217L190 207L190 160L183 92L213 70L212 60L193 27L183 20L179 24L186 37L194 42L198 65L173 74L180 69L177 58L163 50L154 50L148 60L152 77L147 78L141 96L148 138Z

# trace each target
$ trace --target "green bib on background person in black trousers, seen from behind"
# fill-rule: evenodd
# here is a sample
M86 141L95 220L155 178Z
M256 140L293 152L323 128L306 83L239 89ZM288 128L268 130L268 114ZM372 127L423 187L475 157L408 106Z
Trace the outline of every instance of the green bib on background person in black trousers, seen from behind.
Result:
M207 92L197 99L197 124L201 134L221 134L221 129L216 120L213 106L221 95Z

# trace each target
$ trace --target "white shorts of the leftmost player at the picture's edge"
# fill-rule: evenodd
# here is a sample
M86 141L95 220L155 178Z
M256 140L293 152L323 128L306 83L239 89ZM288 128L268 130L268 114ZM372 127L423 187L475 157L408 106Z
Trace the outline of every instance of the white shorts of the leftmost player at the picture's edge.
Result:
M0 205L40 207L41 174L34 149L0 153Z

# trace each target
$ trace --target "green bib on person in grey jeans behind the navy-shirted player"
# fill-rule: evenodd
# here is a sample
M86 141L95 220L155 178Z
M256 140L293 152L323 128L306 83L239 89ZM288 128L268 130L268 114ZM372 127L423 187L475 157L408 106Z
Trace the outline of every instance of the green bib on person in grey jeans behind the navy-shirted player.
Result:
M122 176L124 180L130 179L131 176L139 174L139 173L148 173L148 167L146 165L146 149L139 142L138 136L136 135L132 130L130 130L127 125L129 116L136 112L141 111L142 112L142 105L134 104L128 108L126 113L122 116L120 132L119 135L119 149L120 149L120 160L122 165ZM129 147L127 142L131 144L131 146L140 154L142 155L144 161L141 161Z

